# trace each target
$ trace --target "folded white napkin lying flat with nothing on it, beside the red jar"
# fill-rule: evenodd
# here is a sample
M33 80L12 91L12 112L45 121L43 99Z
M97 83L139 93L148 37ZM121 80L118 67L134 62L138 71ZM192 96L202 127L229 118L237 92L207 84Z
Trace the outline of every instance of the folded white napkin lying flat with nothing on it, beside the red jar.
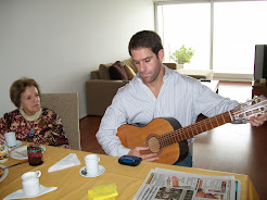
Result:
M58 163L50 166L48 168L48 172L60 171L74 165L80 165L80 161L75 153L69 153L64 159L60 160Z

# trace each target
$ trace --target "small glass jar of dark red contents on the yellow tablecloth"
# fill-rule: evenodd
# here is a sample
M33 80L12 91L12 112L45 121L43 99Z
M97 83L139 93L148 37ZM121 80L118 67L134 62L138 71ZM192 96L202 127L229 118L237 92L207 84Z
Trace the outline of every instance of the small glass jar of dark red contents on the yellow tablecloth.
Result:
M31 166L38 166L43 163L42 148L38 143L31 143L27 147L28 163Z

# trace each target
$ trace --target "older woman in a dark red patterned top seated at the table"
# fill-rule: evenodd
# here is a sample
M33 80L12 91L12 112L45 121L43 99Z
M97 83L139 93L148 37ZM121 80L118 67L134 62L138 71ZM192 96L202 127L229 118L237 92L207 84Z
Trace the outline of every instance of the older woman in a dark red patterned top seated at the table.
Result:
M0 140L5 133L14 132L22 141L69 148L59 114L41 108L40 96L34 79L22 78L12 84L10 98L17 109L0 118Z

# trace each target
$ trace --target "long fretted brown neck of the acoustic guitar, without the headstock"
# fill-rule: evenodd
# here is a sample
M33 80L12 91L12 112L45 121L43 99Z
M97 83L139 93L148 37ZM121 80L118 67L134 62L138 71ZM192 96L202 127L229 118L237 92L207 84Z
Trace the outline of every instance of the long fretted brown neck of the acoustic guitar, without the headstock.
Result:
M209 118L205 118L192 125L162 135L160 139L161 146L170 146L173 143L192 138L193 136L196 136L201 133L216 128L230 122L232 122L230 111Z

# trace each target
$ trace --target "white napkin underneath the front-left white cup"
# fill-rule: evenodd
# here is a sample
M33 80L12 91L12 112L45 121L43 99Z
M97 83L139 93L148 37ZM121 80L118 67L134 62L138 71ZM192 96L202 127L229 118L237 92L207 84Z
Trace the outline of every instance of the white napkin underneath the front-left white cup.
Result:
M58 187L44 187L42 185L40 185L40 192L35 195L35 196L25 196L23 192L23 189L18 189L17 191L14 191L13 193L8 195L5 198L3 198L3 200L9 200L9 199L26 199L26 198L34 198L34 197L39 197L42 196L44 193L48 193L50 191L53 191L58 189Z

